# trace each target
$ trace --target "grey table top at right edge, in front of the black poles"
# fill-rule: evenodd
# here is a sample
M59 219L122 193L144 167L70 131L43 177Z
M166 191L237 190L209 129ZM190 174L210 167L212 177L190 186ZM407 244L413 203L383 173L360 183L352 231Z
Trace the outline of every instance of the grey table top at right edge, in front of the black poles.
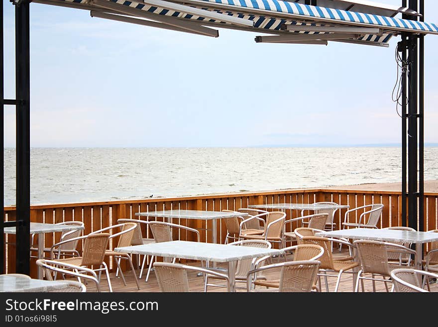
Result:
M397 229L350 228L332 231L323 231L316 236L344 237L352 239L370 239L385 242L405 241L409 243L428 243L438 241L438 233L427 231L409 231Z

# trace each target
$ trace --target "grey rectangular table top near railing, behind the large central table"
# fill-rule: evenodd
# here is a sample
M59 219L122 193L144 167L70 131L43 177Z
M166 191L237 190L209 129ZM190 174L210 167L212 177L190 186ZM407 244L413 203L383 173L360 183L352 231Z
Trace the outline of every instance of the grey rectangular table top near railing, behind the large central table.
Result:
M136 213L135 216L163 217L163 218L186 218L186 219L218 219L246 217L247 213L227 213L221 211L202 211L202 210L164 210Z

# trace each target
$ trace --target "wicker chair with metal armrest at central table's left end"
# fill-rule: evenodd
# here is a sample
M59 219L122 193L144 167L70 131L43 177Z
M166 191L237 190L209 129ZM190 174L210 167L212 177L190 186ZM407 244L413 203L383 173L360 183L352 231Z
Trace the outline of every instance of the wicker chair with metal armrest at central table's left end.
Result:
M118 237L117 245L113 245L113 247L114 248L115 247L125 247L125 246L131 245L132 237L134 235L134 232L137 229L137 226L138 225L136 222L122 222L122 223L118 223L118 224L115 224L115 225L112 225L109 227L95 230L90 234L109 232L109 231L112 231L114 229L120 230L120 231L115 232L115 233L112 232L111 236L109 236L109 239L114 238L114 237ZM129 254L123 253L123 252L115 252L113 250L106 250L105 256L114 258L114 261L117 264L117 273L120 272L124 286L126 286L126 280L125 280L125 277L123 275L123 271L120 268L120 260L128 261L129 266L131 267L132 274L134 275L134 280L135 280L135 284L137 285L137 289L140 289L140 286L138 285L137 274L135 273L134 265L132 264L132 259L131 259L131 256Z

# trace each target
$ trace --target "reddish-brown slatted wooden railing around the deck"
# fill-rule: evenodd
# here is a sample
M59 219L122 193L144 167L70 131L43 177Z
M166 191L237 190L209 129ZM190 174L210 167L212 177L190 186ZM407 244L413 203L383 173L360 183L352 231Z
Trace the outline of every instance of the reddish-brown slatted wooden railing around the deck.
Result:
M314 203L332 201L339 204L349 205L356 208L363 205L382 203L384 205L380 227L401 226L401 192L390 191L352 191L352 190L327 190L327 189L294 189L270 192L245 192L233 194L218 194L206 196L191 196L177 198L155 198L133 201L111 201L111 202L90 202L71 203L54 205L35 205L30 209L30 220L34 222L57 223L67 220L79 220L85 224L84 234L94 230L116 224L119 218L137 218L135 213L151 212L155 210L187 209L187 210L209 210L221 211L223 209L237 210L246 208L248 205L272 204L272 203ZM437 229L437 203L438 193L425 193L425 230ZM343 222L346 209L338 210L335 213L334 222L337 227ZM296 218L301 213L295 210L286 212L286 219ZM5 220L15 220L15 207L4 208ZM350 221L358 217L350 217ZM162 218L157 218L162 220ZM201 241L212 241L212 221L179 219L174 221L189 227L197 228L201 232ZM289 224L286 229L293 230L297 224ZM143 230L145 235L150 237L149 230ZM217 228L218 241L224 241L226 227L224 221L219 219ZM12 273L15 270L15 235L5 235L5 273ZM175 235L180 239L190 239L190 235ZM59 240L60 233L45 234L45 246L50 247ZM36 239L34 243L36 244ZM114 240L116 241L116 240ZM79 244L82 249L83 244ZM36 265L31 262L31 275L36 276ZM109 262L108 262L109 263ZM112 264L110 265L112 267Z

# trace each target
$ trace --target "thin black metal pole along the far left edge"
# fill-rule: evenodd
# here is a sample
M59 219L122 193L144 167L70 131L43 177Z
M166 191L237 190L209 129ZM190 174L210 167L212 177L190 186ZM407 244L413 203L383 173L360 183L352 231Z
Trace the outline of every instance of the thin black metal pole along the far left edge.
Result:
M0 168L0 178L1 178L1 200L0 200L0 208L1 208L1 221L0 221L0 274L4 273L4 234L3 234L3 221L4 221L4 72L3 72L3 1L0 1L0 15L1 15L1 28L0 28L0 77L1 77L1 86L0 86L0 105L1 105L1 121L0 121L0 141L1 141L1 168Z

